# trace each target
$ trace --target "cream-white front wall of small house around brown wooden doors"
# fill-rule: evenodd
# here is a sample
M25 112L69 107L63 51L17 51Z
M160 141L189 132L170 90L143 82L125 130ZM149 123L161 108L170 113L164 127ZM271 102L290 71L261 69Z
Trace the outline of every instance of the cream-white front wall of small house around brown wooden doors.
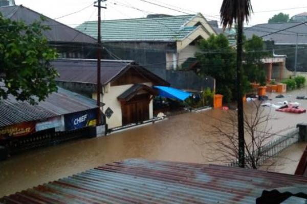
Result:
M152 83L144 83L145 85L151 87ZM107 89L104 89L104 94L101 96L101 102L104 103L103 113L107 108L111 108L114 112L111 118L106 118L106 123L109 128L122 126L122 112L121 112L121 103L117 97L132 87L133 84L123 85L123 86L108 86ZM96 99L96 93L93 93L93 99ZM149 104L149 118L153 118L153 100Z

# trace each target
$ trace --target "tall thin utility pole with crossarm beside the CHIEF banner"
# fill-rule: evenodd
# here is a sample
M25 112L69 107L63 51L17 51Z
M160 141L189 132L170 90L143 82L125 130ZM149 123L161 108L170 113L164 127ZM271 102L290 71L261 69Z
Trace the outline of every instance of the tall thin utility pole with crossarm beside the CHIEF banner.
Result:
M101 2L105 2L106 0L98 0L98 6L94 5L94 7L98 7L98 49L97 49L97 106L98 106L98 114L97 114L97 125L101 124L101 114L100 114L100 94L101 94L101 8L106 9L106 7L101 6ZM97 3L97 2L95 2Z

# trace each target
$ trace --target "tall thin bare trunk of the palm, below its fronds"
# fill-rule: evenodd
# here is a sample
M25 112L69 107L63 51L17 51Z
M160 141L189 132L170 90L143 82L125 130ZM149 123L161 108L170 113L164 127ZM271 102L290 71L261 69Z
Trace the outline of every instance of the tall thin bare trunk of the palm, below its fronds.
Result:
M243 113L243 93L242 93L242 48L243 48L243 20L238 20L237 26L237 67L236 67L236 87L237 87L237 108L238 108L238 143L239 143L239 167L245 167L244 148L244 113Z

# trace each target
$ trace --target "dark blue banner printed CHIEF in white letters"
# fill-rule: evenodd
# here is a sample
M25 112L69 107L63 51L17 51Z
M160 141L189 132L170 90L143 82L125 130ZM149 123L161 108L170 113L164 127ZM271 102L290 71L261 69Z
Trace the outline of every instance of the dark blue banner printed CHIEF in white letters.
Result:
M65 115L64 121L66 131L76 130L86 126L95 126L97 122L97 109Z

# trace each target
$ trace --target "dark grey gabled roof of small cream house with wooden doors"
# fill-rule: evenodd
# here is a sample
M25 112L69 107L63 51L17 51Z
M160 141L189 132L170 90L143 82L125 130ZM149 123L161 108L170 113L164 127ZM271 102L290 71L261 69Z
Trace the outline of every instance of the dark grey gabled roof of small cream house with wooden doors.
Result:
M51 65L60 74L56 81L97 84L97 60L58 59L51 62ZM169 83L134 61L124 60L101 60L101 84L106 85L129 68L136 69L151 82L158 82L156 84L161 86L169 86Z

